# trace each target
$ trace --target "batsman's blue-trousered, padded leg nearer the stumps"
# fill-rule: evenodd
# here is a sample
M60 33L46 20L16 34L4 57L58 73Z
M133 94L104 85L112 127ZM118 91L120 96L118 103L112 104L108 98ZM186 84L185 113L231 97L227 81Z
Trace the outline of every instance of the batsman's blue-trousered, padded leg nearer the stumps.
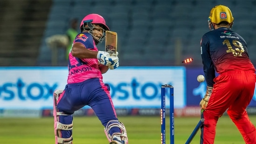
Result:
M118 121L108 85L97 80L95 86L96 90L90 92L94 99L88 105L104 125L106 137L110 144L128 144L125 126Z

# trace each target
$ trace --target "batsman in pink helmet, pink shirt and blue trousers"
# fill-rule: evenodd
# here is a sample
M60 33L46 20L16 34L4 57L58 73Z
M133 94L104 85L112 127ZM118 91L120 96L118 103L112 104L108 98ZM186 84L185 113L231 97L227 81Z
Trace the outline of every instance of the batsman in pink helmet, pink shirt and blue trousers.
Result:
M73 114L85 105L94 110L110 144L128 144L125 126L117 118L110 87L102 75L108 69L118 68L118 52L110 54L96 47L110 29L99 14L86 15L80 29L69 52L67 85L53 94L55 144L73 144ZM89 124L84 118L84 125Z

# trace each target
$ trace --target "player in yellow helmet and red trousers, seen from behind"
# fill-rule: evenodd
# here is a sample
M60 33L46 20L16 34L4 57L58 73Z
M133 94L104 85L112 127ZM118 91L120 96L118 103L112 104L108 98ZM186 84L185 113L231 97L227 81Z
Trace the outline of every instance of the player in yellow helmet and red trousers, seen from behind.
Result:
M256 128L245 110L254 95L256 70L249 59L246 41L231 30L233 21L228 7L213 7L208 17L211 31L201 39L207 91L200 102L204 118L200 144L214 144L217 121L226 110L244 142L256 144Z

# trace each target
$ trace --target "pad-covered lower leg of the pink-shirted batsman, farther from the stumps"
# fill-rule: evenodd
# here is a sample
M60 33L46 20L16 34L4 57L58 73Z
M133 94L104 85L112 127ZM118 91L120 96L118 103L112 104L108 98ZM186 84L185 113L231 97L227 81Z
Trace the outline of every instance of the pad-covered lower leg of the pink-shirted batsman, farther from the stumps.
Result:
M55 90L53 94L55 144L72 144L73 117L72 115L65 114L56 108L59 96L62 92L63 90L58 89Z

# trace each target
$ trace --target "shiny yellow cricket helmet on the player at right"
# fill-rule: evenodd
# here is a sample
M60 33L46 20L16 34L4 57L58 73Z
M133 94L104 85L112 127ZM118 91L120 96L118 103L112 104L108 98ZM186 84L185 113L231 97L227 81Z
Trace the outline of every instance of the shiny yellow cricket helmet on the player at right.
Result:
M208 21L218 24L221 21L227 21L229 24L234 21L230 9L223 5L218 5L212 8Z

